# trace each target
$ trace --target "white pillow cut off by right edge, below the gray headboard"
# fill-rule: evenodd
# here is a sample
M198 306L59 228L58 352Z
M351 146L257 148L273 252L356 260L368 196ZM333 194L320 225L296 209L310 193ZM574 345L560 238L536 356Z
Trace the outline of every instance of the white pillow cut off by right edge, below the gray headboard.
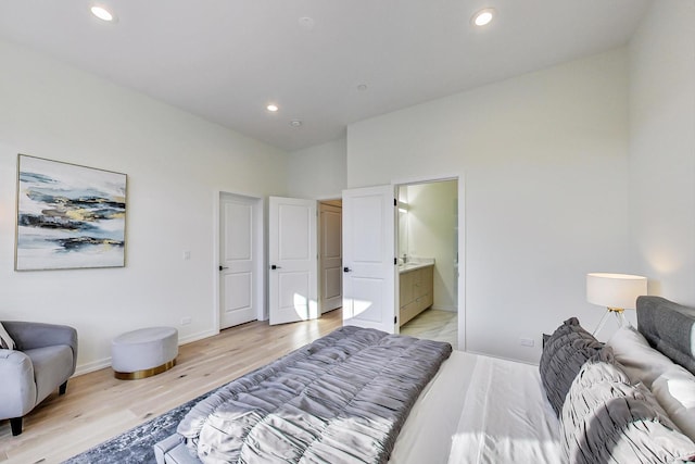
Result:
M695 441L695 376L674 364L654 380L652 393L681 431Z

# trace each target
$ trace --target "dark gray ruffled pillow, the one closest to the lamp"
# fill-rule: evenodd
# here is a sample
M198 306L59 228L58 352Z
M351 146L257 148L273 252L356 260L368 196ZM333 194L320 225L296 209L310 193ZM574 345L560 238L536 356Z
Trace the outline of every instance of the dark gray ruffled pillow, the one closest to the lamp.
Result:
M577 317L565 321L545 341L539 369L545 394L558 417L579 369L602 348L603 344L582 328Z

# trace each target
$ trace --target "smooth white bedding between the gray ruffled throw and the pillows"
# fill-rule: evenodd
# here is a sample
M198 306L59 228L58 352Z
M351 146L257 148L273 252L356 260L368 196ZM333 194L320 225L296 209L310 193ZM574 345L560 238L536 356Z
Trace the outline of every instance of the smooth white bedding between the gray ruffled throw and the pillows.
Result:
M454 351L405 422L392 464L557 463L538 366Z

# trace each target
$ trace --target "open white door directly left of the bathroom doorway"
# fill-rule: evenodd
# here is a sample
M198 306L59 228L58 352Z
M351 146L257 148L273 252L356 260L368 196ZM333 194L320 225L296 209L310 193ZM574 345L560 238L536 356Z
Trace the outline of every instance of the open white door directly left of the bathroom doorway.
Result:
M395 205L392 186L343 190L343 324L393 334Z

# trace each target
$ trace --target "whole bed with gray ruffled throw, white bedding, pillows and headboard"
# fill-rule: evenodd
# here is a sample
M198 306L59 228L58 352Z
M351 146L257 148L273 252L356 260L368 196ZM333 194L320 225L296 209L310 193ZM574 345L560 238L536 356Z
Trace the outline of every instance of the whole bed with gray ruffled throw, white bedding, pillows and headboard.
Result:
M343 327L220 388L155 455L161 464L695 462L695 310L641 297L637 321L639 330L599 343L570 318L540 366ZM353 359L356 374L342 363ZM309 371L316 379L305 379ZM376 386L344 384L369 371ZM336 397L345 391L350 400ZM338 403L348 406L336 412Z

